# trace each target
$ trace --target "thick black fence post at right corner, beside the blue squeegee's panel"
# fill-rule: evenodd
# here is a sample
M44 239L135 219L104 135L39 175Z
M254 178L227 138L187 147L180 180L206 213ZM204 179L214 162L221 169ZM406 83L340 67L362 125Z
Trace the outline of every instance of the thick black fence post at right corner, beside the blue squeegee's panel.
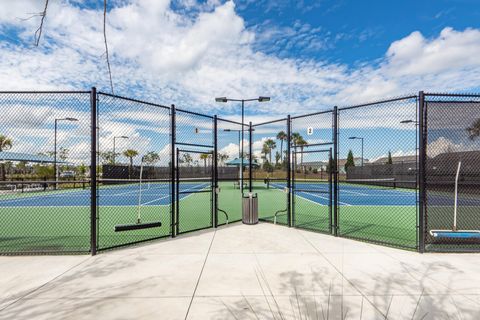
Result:
M425 252L425 217L426 217L426 191L425 191L425 161L426 161L426 105L423 91L418 93L419 115L418 130L420 134L420 154L418 164L419 211L418 211L418 251Z

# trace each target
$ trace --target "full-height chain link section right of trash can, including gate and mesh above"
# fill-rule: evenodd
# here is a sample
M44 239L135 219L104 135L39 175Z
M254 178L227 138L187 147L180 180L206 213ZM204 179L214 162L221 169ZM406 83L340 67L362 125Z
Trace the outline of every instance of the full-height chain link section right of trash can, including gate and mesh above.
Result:
M293 226L332 232L333 111L291 120Z

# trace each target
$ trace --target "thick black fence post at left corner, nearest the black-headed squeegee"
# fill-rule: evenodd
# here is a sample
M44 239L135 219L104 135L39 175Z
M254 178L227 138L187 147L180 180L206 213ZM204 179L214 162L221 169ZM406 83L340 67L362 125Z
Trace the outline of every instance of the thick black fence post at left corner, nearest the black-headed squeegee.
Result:
M90 252L97 254L97 89L90 91Z

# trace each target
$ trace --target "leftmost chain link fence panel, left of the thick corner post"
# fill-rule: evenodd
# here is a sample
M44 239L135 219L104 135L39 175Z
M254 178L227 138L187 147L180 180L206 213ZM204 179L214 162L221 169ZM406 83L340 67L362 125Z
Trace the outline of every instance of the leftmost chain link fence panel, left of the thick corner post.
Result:
M0 253L88 252L90 92L0 103Z

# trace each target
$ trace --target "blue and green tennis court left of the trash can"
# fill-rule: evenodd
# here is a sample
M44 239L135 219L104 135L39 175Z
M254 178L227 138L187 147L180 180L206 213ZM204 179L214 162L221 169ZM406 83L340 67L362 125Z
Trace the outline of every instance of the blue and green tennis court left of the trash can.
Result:
M179 232L212 226L209 181L181 181L179 190ZM240 192L233 182L220 183L219 208L229 220L240 219ZM98 247L109 248L156 237L169 236L171 230L168 181L121 183L98 186ZM88 251L90 247L90 188L15 192L0 195L2 249L6 251ZM139 206L140 204L140 206ZM160 221L152 229L114 232L114 227L136 222L138 210L142 221ZM219 224L226 216L219 214Z

